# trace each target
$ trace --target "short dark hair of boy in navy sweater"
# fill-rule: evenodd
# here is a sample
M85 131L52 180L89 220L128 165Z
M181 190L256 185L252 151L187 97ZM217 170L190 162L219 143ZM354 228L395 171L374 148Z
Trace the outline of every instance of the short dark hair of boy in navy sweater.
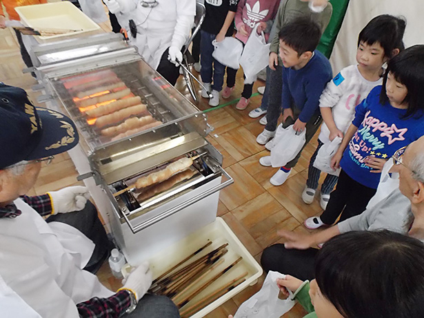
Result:
M314 52L321 39L321 29L311 19L299 17L281 28L279 38L295 50L300 57L303 52Z

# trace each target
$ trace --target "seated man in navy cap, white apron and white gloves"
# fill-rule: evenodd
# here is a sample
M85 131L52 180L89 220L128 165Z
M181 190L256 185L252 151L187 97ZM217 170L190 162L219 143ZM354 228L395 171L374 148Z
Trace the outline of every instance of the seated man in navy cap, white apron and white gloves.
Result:
M93 242L63 220L43 219L79 213L72 211L84 208L83 187L25 195L41 162L78 140L68 117L35 108L24 90L0 83L0 317L179 317L170 299L145 295L152 283L147 263L112 292L83 270Z

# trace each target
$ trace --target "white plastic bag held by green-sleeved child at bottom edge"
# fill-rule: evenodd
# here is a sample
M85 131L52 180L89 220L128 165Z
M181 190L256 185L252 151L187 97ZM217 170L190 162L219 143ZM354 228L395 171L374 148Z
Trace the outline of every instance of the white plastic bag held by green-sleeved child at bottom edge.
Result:
M279 299L280 290L276 285L279 278L284 279L285 275L270 270L261 290L241 304L234 318L279 318L292 309L296 302L291 297Z

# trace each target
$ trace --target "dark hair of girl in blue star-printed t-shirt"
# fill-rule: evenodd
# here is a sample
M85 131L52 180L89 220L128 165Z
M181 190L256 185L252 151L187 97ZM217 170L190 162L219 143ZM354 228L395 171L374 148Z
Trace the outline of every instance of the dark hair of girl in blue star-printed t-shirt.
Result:
M380 103L389 101L385 90L387 74L392 73L396 81L407 88L404 102L408 104L403 118L412 115L423 115L424 110L424 45L411 46L400 52L387 62L387 70L383 78L383 88L380 93Z

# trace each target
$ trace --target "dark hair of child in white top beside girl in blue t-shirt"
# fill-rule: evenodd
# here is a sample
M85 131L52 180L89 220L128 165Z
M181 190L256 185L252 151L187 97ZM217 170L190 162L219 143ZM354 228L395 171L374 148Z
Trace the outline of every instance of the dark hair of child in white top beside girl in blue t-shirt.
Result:
M381 14L372 19L362 29L358 37L358 46L361 42L372 45L380 43L385 57L392 58L393 50L405 50L403 33L405 33L406 21L403 17L394 17L390 14Z

